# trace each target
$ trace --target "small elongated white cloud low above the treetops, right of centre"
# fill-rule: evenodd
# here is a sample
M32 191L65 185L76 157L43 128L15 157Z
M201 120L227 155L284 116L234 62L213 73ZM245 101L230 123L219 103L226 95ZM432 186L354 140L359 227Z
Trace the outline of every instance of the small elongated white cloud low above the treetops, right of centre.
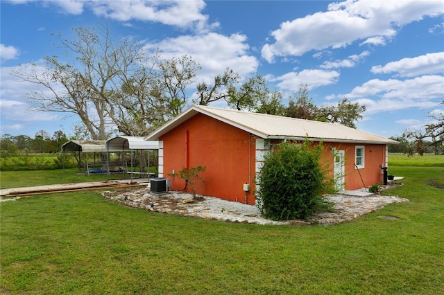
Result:
M300 85L307 84L309 89L323 85L334 84L339 78L337 71L323 71L318 69L303 70L298 73L290 72L276 78L270 78L272 82L281 81L278 87L282 90L298 91Z

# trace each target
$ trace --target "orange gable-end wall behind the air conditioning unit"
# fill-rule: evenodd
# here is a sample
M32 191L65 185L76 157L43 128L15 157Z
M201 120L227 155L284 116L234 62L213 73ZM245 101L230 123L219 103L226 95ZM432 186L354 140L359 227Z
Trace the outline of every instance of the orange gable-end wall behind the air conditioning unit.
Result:
M182 168L206 166L205 179L196 193L230 201L255 204L255 141L250 134L203 114L185 121L160 138L163 143L163 177L171 179L173 190L185 182L171 174ZM250 184L250 191L244 191ZM189 191L189 188L187 188Z

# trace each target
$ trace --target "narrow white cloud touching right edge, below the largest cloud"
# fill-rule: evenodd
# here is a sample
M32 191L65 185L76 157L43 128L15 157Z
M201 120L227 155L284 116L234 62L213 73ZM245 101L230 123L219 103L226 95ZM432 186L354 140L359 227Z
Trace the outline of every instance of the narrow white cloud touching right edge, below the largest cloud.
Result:
M416 77L434 73L444 73L444 51L427 53L412 58L388 62L384 66L372 66L372 73L398 73L401 77Z

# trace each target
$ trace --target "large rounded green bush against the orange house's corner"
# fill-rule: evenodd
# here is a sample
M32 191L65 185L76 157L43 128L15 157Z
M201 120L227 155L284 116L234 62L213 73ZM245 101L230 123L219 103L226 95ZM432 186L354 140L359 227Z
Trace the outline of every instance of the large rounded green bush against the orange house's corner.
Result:
M259 208L272 220L307 219L331 210L323 193L334 191L334 179L321 166L323 145L282 143L264 161L259 176Z

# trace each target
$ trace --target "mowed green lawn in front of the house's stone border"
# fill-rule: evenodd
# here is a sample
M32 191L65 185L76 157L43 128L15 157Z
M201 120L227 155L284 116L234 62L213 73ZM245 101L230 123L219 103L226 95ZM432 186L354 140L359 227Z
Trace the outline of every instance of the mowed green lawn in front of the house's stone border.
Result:
M444 294L444 167L389 170L404 186L386 193L411 202L334 226L160 215L96 191L1 202L0 293Z

